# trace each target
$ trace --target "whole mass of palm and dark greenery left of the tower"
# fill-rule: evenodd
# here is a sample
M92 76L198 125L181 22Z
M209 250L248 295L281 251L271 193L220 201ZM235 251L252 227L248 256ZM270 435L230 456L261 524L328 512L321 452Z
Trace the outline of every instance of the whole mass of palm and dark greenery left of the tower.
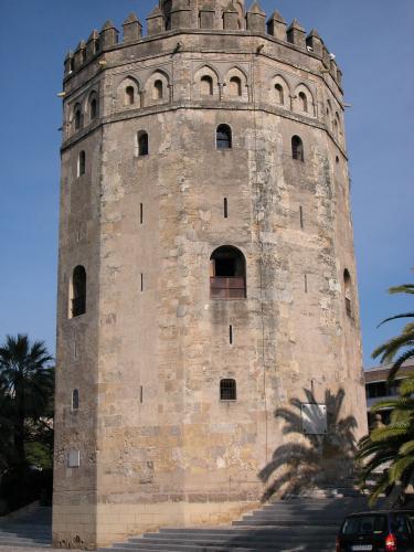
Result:
M44 343L31 343L28 336L7 336L0 347L0 495L9 509L33 499L34 480L51 479L39 476L51 470L53 457L51 361ZM21 486L24 480L32 481L32 488Z

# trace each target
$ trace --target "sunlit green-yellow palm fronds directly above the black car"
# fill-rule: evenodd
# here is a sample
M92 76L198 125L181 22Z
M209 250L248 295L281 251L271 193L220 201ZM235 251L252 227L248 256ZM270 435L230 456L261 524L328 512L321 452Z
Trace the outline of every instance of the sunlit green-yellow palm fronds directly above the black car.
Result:
M401 382L396 399L376 403L371 412L392 408L389 425L376 427L359 443L361 485L380 475L370 497L371 505L385 490L401 485L401 493L414 476L414 378Z

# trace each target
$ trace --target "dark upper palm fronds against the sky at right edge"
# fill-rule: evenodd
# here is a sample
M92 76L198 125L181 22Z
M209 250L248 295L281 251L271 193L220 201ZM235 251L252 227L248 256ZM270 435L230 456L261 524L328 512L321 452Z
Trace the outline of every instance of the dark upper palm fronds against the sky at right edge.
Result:
M391 287L389 289L390 294L408 294L414 295L414 284L404 284L397 287ZM396 320L401 318L412 318L414 320L414 311L403 312L401 315L395 315L383 320L381 325L389 322L390 320ZM378 347L372 353L372 358L376 359L380 357L381 364L391 363L392 368L389 374L389 383L391 383L400 368L408 359L414 358L414 321L408 322L400 336L392 338L382 346Z

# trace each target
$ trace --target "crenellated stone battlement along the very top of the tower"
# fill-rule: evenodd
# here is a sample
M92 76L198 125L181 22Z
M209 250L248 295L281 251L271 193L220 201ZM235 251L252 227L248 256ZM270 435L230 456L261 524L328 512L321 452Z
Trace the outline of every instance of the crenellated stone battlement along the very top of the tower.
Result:
M266 52L269 55L277 54L279 45L302 52L319 60L322 72L328 73L341 87L342 73L315 29L307 34L296 19L288 26L277 11L267 19L258 2L254 2L247 11L237 1L211 0L202 6L194 4L197 2L193 0L160 2L147 17L147 35L142 34L142 23L135 13L130 13L124 21L123 33L119 33L113 21L106 21L100 32L94 30L86 42L82 40L74 52L67 53L64 63L65 79L103 54L120 47L147 44L149 41L182 33L214 33L263 38L266 40L266 50L261 50L263 55Z

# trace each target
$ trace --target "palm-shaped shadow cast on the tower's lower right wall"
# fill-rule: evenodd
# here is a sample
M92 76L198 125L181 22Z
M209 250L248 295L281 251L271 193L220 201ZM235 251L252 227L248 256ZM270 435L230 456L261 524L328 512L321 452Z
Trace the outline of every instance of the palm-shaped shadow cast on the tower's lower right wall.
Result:
M347 487L352 478L358 423L353 416L341 417L343 389L336 394L329 390L325 392L325 435L304 434L301 406L318 403L312 391L305 389L304 393L304 401L291 399L290 407L275 411L275 418L285 421L283 434L290 435L291 442L276 448L272 460L258 474L266 485L263 501L272 496L286 498L311 489Z

